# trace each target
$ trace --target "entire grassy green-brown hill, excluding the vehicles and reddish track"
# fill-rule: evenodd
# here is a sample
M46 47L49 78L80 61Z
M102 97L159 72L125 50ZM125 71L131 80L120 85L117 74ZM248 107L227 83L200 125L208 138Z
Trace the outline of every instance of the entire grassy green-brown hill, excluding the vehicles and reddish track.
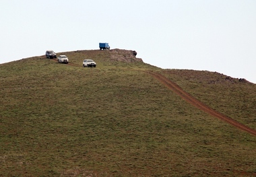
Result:
M59 54L70 65L44 56L0 65L0 176L256 176L255 136L145 71L251 129L255 84L160 69L129 50Z

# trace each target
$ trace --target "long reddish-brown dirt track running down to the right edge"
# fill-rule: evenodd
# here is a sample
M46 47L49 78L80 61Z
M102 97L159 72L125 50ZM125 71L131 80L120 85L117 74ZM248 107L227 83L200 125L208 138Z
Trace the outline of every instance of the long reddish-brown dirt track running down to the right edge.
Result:
M184 90L179 87L176 83L170 81L163 75L160 75L159 73L154 73L150 71L145 71L146 73L149 73L150 75L153 75L156 79L164 83L168 88L170 88L173 92L181 96L184 100L192 104L193 106L199 108L200 110L203 110L204 112L207 112L208 114L211 114L212 116L215 116L216 118L220 118L220 120L224 120L228 122L230 125L233 125L234 127L241 129L243 131L246 131L247 133L250 133L251 135L256 136L256 131L254 129L251 129L240 122L237 122L236 120L225 116L224 114L221 114L220 112L217 112L216 110L213 110L209 106L203 104L202 102L199 102L196 98L185 92Z

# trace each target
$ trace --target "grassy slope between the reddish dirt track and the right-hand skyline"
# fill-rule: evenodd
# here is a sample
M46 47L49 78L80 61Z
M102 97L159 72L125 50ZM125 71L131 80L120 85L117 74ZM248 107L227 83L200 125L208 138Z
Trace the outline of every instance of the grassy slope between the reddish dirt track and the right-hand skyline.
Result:
M256 85L209 71L165 70L163 75L207 106L256 130Z

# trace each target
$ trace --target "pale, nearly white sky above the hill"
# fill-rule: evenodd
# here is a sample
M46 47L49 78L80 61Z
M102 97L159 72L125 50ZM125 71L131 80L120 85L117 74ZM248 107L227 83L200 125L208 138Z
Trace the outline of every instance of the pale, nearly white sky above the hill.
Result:
M163 69L256 83L256 0L0 0L0 22L0 63L108 42Z

